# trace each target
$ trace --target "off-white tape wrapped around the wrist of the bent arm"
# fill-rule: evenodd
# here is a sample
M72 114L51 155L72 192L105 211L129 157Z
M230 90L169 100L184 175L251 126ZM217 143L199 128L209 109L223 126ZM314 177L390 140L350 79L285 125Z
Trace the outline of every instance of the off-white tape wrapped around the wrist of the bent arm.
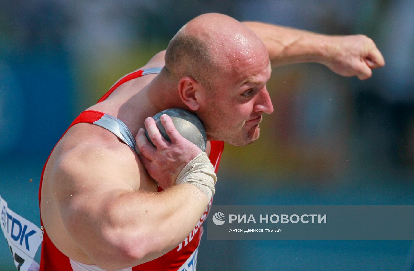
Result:
M214 185L217 182L216 173L213 165L210 163L207 154L203 151L194 157L184 168L176 179L176 185L190 183L195 185L210 201L216 192Z

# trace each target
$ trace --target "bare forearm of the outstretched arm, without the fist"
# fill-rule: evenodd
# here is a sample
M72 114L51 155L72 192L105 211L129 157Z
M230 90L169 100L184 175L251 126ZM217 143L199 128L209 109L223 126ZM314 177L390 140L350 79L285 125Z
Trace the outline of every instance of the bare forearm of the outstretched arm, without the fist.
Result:
M261 22L243 22L263 41L272 66L323 62L329 56L329 36Z

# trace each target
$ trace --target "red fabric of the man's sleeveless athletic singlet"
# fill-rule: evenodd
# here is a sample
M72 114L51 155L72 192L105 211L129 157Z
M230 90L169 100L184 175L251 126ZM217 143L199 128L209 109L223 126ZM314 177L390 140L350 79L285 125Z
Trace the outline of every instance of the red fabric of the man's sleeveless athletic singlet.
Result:
M144 74L148 74L148 72L146 73L146 71L147 70L138 70L121 78L118 82L116 82L116 84L114 84L111 87L111 89L109 89L109 91L101 99L99 99L98 103L108 98L108 96L111 95L111 93L115 91L116 88L120 86L121 84L128 82L131 79L135 79L137 77L143 76L143 72ZM155 72L152 72L152 73L155 73ZM93 123L96 120L99 120L103 115L105 115L105 113L94 111L94 110L86 110L82 112L72 122L69 128L81 122ZM67 128L67 130L69 130L69 128ZM65 131L65 133L67 132L67 130ZM63 133L62 137L65 135L65 133ZM223 148L224 148L224 142L223 141L210 141L210 143L211 143L211 151L210 151L209 159L210 159L210 162L214 166L214 171L217 173L217 170L219 168L221 153L223 152ZM40 179L39 204L40 204L40 199L41 199L41 187L42 187L42 181L43 181L43 174L44 174L46 164L48 163L49 158L50 158L50 155L47 158L45 165L43 166L43 171L42 171L42 175ZM161 190L162 190L161 187L159 187L158 191L161 191ZM211 204L212 204L212 200L210 200L209 206ZM132 271L144 271L144 270L176 271L178 269L187 269L187 266L183 266L183 264L188 264L189 260L191 260L191 265L195 266L195 262L197 261L197 248L198 248L198 245L200 244L201 235L203 233L203 229L201 225L207 218L207 215L209 212L209 206L207 206L204 214L200 218L200 221L197 222L197 225L195 225L195 228L193 229L193 231L190 233L190 235L188 235L188 237L185 238L185 240L183 240L183 242L181 242L180 245L178 245L176 248L174 248L170 252L164 254L163 256L157 259L148 261L138 266L133 266L131 269L128 269L128 270L132 270ZM40 221L41 221L41 225L43 226L42 218L40 218ZM190 256L193 257L193 259L189 259ZM75 266L75 267L72 266L71 261L72 261L71 259L65 256L62 252L59 251L59 249L55 247L55 245L53 245L45 229L44 235L43 235L42 249L41 249L40 271L82 270L82 269L79 269L79 266ZM88 269L83 269L83 270L95 270L94 269L95 267L96 266L90 266L91 269L88 268ZM190 268L190 265L189 265L189 268Z

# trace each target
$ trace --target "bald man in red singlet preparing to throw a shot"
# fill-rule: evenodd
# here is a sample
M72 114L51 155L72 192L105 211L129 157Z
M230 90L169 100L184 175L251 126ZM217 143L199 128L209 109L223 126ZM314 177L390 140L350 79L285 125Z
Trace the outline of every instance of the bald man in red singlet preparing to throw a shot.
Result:
M195 270L222 141L258 139L262 115L273 111L265 86L271 65L294 62L320 62L360 79L384 65L361 35L242 24L222 14L183 26L166 51L79 115L46 161L41 270ZM161 137L149 117L167 108L197 114L206 153L165 115L172 140Z

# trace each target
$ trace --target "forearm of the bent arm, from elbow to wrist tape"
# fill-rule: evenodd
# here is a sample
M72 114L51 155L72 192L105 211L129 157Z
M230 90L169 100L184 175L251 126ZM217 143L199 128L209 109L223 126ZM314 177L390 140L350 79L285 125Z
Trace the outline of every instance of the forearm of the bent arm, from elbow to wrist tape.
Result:
M156 259L179 245L200 220L208 201L194 185L180 184L157 194L126 193L116 204L119 204L117 209L134 206L133 210L125 208L121 214L125 218L130 217L123 222L127 227L121 235L137 236L130 243L131 250L141 248L133 264L137 265ZM131 213L136 215L129 220ZM119 223L118 227L122 224ZM128 233L128 228L132 232Z

